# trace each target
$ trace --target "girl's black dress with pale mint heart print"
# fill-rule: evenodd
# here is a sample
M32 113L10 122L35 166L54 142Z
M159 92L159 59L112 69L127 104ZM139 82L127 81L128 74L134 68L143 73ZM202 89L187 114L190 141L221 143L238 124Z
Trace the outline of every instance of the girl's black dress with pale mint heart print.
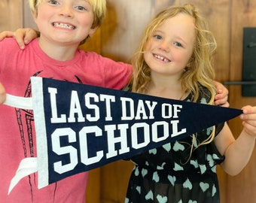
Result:
M210 93L202 88L198 103L206 104ZM186 101L191 101L188 95ZM215 128L215 135L223 128ZM191 152L192 136L168 143L154 150L132 157L135 163L125 202L128 203L208 203L219 202L216 165L224 161L215 143L205 144L212 127L197 133Z

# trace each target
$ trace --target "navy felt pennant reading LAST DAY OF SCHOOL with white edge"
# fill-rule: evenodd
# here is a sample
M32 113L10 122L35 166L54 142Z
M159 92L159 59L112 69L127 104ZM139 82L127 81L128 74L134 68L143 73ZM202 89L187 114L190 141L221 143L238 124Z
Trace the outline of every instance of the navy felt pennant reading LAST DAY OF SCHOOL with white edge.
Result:
M23 160L10 192L22 177L35 171L40 189L242 114L233 108L41 77L32 77L31 82L29 104L34 111L38 157ZM12 98L8 95L7 105L29 108Z

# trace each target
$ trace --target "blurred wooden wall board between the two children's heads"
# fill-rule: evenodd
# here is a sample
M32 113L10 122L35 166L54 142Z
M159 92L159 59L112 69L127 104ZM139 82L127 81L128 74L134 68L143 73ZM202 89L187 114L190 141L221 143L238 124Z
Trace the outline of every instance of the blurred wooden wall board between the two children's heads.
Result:
M152 15L148 0L108 0L108 14L102 26L102 55L129 62Z

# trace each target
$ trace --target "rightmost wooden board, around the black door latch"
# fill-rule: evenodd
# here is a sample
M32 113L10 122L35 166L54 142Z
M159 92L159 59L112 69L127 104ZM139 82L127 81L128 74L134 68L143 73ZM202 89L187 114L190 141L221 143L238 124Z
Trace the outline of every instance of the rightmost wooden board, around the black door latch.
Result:
M242 29L256 27L256 2L254 0L232 1L232 41L230 44L230 80L242 80ZM255 56L256 59L256 56ZM256 67L255 67L256 68ZM230 105L241 108L244 105L256 105L256 98L242 97L241 86L230 86ZM230 121L234 132L241 132L239 118ZM237 134L238 135L238 134ZM245 169L236 177L227 177L227 203L255 202L256 199L256 149Z

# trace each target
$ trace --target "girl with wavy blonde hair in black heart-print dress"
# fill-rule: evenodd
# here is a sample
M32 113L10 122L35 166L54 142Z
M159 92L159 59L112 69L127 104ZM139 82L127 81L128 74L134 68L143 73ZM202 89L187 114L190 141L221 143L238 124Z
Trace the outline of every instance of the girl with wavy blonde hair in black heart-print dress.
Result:
M216 43L193 5L161 11L145 29L133 58L132 91L214 104ZM216 165L238 174L256 138L256 107L243 108L235 141L227 123L134 156L126 203L219 202Z

